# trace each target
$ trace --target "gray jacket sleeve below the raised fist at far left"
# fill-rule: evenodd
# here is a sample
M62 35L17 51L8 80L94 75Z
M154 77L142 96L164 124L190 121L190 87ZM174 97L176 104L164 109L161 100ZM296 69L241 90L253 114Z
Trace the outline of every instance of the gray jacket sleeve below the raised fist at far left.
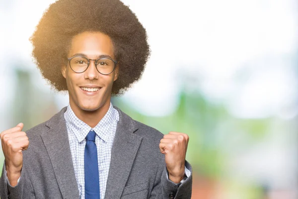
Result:
M0 178L0 198L1 199L35 199L31 181L26 169L23 167L19 181L15 187L11 187L6 179L5 161Z

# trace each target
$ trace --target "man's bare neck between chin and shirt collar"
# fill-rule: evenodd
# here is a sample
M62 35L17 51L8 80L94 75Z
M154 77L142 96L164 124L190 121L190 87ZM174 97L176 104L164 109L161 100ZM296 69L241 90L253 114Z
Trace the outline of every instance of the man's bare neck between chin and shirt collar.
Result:
M91 128L94 128L99 121L104 117L104 115L108 112L110 108L110 102L104 104L100 108L96 110L83 110L77 107L76 105L72 105L70 102L70 106L72 110L74 111L75 116L88 124Z

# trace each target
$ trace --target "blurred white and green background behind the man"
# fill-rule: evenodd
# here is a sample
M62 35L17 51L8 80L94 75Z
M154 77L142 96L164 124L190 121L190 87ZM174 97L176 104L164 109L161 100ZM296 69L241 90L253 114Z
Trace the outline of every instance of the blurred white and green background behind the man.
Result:
M0 0L0 131L27 130L68 105L30 58L28 38L54 0L29 1ZM192 198L297 199L298 3L123 2L147 29L151 57L112 103L162 133L189 135Z

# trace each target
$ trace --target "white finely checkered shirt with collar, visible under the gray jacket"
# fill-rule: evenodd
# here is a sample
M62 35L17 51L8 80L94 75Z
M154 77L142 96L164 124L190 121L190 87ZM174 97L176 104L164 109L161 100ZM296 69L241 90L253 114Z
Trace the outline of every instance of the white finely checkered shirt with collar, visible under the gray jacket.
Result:
M74 174L80 199L85 198L84 179L84 150L86 136L92 129L85 122L78 119L69 105L64 113L67 124L71 153L74 164ZM95 143L97 146L98 171L100 198L104 199L108 173L111 161L112 145L116 133L116 126L119 120L119 112L110 103L110 108L100 122L93 128L96 133Z

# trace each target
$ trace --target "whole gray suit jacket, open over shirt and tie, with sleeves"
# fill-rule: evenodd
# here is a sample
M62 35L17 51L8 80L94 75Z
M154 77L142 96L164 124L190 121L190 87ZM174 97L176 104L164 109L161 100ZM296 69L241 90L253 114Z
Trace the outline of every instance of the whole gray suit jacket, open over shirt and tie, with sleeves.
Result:
M190 199L192 176L182 183L166 177L161 134L119 110L105 199ZM29 147L17 186L0 179L1 199L79 199L64 112L27 131ZM4 164L5 166L5 164ZM186 162L191 171L191 166Z

